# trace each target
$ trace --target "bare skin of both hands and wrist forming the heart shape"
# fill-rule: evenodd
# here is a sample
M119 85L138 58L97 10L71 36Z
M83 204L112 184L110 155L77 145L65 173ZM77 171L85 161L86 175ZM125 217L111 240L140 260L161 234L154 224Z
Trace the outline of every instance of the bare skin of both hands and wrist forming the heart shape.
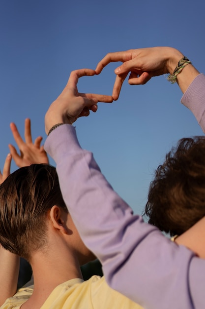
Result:
M89 111L97 111L97 102L112 102L117 100L121 86L129 75L130 85L145 84L151 77L162 74L173 74L178 61L183 54L172 47L151 47L131 49L122 52L107 54L97 65L95 71L81 69L71 72L68 83L59 97L51 104L45 116L45 131L57 123L72 124L80 116L88 116ZM103 68L110 62L123 62L115 70L116 80L113 87L113 95L104 96L97 94L79 93L77 89L78 79L83 76L100 74ZM188 64L177 75L177 83L182 92L185 92L193 79L200 74L191 64Z

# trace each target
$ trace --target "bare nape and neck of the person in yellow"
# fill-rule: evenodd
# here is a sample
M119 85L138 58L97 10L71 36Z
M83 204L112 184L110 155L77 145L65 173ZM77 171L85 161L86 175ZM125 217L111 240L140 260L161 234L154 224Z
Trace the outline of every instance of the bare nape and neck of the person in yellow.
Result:
M73 252L63 246L56 251L52 249L51 246L46 253L36 252L32 256L34 290L22 309L40 308L59 284L74 278L83 279L78 258Z

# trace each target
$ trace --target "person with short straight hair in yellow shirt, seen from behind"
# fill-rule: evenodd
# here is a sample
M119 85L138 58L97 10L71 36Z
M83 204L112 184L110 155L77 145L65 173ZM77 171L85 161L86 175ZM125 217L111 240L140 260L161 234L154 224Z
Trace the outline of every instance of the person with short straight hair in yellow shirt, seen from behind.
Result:
M0 205L0 243L29 261L34 279L1 309L141 308L104 277L83 280L80 266L95 256L68 213L55 167L31 164L13 172L0 186Z

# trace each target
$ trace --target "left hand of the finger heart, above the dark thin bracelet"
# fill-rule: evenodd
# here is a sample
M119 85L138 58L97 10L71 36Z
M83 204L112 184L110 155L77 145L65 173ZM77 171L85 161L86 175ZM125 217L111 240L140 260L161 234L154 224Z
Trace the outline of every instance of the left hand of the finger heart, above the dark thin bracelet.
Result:
M95 71L91 69L71 72L67 85L46 113L45 131L47 134L51 127L57 123L72 124L78 117L88 116L89 111L96 112L97 102L113 102L112 96L78 92L78 79L93 75L95 75Z

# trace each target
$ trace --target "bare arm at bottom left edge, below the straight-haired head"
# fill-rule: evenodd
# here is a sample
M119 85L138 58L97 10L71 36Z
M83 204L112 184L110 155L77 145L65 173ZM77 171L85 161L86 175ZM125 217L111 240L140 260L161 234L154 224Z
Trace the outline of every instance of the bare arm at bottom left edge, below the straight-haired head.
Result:
M0 246L0 305L17 290L20 258Z

